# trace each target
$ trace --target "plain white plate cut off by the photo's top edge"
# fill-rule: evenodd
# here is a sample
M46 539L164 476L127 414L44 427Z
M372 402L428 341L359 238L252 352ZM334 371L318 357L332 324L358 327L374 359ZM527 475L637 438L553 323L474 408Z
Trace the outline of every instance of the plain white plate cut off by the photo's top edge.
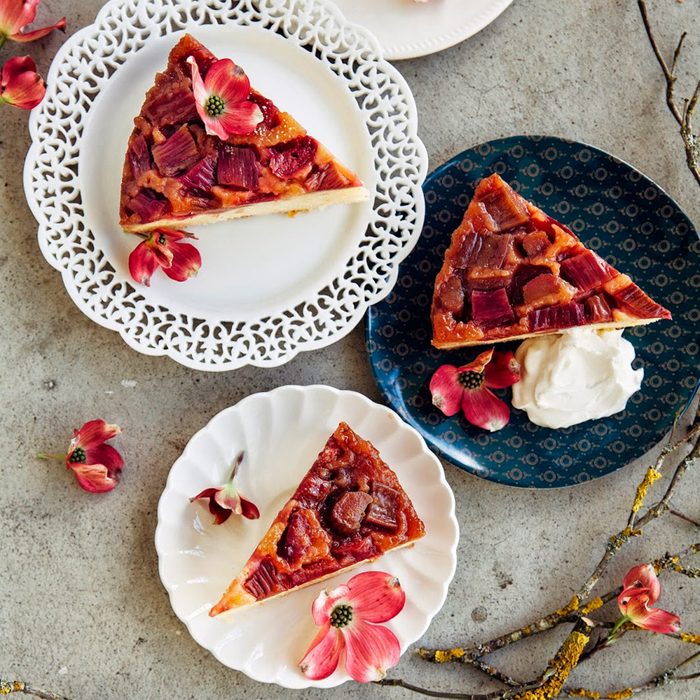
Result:
M464 41L493 22L513 0L335 0L364 24L390 61L417 58Z

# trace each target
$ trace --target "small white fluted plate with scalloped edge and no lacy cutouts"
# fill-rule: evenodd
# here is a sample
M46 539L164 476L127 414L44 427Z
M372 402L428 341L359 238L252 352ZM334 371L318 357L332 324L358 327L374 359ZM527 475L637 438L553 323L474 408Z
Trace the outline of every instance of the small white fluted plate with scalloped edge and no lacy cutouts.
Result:
M233 611L228 619L210 618L210 608L340 421L370 440L394 469L425 522L425 537L352 573ZM189 497L223 483L240 450L246 457L237 483L260 508L260 519L231 517L214 525L207 508L191 504ZM160 577L173 610L198 644L254 680L287 688L328 688L348 680L344 669L312 682L297 667L318 630L311 618L311 603L318 593L360 571L398 576L406 606L387 625L403 652L423 635L445 601L455 572L458 537L454 497L442 466L423 438L396 413L352 391L284 386L225 409L190 440L170 470L160 498L155 539Z

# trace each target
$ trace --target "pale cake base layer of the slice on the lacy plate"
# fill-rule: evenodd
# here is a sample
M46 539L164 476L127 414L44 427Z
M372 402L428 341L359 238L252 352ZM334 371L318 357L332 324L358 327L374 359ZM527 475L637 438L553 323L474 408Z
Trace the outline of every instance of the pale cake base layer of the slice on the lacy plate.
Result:
M157 228L180 228L184 225L198 226L215 224L219 221L242 219L246 216L264 216L266 214L288 214L297 211L310 211L312 209L322 209L331 204L363 202L368 197L369 192L367 192L364 187L348 187L343 190L323 190L321 192L309 192L308 194L296 195L295 197L274 199L269 202L255 202L253 204L243 204L230 209L202 212L201 214L195 214L193 216L159 219L158 221L152 221L147 224L122 224L122 227L129 233L147 233Z

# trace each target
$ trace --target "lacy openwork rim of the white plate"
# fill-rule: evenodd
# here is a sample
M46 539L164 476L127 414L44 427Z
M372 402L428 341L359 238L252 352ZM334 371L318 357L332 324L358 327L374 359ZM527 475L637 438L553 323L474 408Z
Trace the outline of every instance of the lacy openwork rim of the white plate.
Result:
M76 253L68 242L60 241L63 234L56 223L58 221L65 230L78 232L75 238L69 241L73 245L80 236L87 237L90 234L89 230L85 230L86 222L75 215L77 206L75 202L80 197L77 183L66 184L65 182L66 178L71 176L71 168L73 170L76 168L75 147L68 144L66 148L66 144L60 142L68 140L65 138L60 141L54 139L50 144L47 141L51 139L46 138L47 129L65 136L62 130L66 127L67 121L74 120L78 125L80 124L80 119L75 119L75 110L68 116L64 114L62 118L56 116L61 113L61 110L65 112L68 109L66 94L70 99L70 90L65 90L65 86L59 84L59 74L63 76L65 72L79 72L75 64L76 56L80 55L81 50L84 52L89 45L93 55L98 53L101 50L100 47L105 44L101 38L102 28L112 27L115 23L121 26L127 20L133 19L129 13L141 18L146 26L152 25L151 28L157 32L172 34L180 30L196 28L197 21L201 24L219 24L221 14L226 11L234 13L239 23L245 26L250 24L261 26L263 20L268 21L270 27L276 27L283 33L287 32L286 38L296 42L302 48L304 43L308 42L308 37L302 31L305 28L303 21L310 22L309 18L323 18L328 26L323 30L317 28L313 40L331 41L328 37L332 36L336 42L341 42L337 46L324 45L326 53L323 60L326 65L333 69L332 61L339 65L342 61L347 62L348 57L343 54L343 51L346 54L349 52L353 58L359 56L357 60L364 61L363 65L378 76L373 78L376 83L374 92L370 89L369 93L377 98L384 94L381 100L385 102L380 105L384 111L386 112L388 105L399 100L403 120L399 130L402 130L401 136L404 139L399 150L405 155L406 166L401 176L391 184L399 186L399 191L403 195L399 199L405 198L400 205L396 204L396 210L404 218L400 222L400 229L387 230L379 235L382 231L382 214L379 210L383 201L386 206L387 199L385 196L382 200L380 195L386 195L389 191L387 188L382 193L380 186L378 196L372 202L369 228L362 241L363 245L366 244L367 250L370 248L370 242L376 243L381 239L382 245L388 246L391 255L388 260L385 260L373 254L374 257L370 262L374 265L374 269L364 277L361 273L358 275L356 269L348 268L344 276L339 275L326 288L330 289L328 294L323 294L324 290L321 290L316 298L297 303L294 308L280 309L279 313L249 322L237 322L235 318L221 319L218 322L210 320L202 322L196 316L179 312L168 313L167 308L163 307L156 308L154 311L149 306L148 298L143 295L143 289L136 290L138 293L132 293L134 285L126 279L118 279L118 283L112 281L109 288L99 287L100 279L110 275L112 279L116 277L113 270L110 272L111 266L104 256L97 260L95 255L93 256L95 260L88 261L92 267L97 268L90 281L91 283L98 281L97 291L88 291L85 280L82 279L86 274L86 266L82 258L90 257L90 240L88 238L87 243ZM180 16L182 12L186 12L184 19ZM207 12L219 21L209 21ZM151 19L151 16L157 16L159 19ZM301 29L297 25L301 25ZM336 30L339 30L339 34ZM94 46L95 42L97 42L97 48ZM126 43L127 49L132 50L129 48L129 42ZM414 247L424 218L421 184L427 173L428 158L425 147L417 136L415 101L406 81L393 66L380 58L380 53L381 50L370 32L347 22L330 0L308 0L304 4L293 3L287 8L280 6L275 0L258 0L255 8L246 4L237 6L236 9L228 8L225 0L192 0L186 9L182 6L176 7L166 0L111 0L108 2L100 10L92 25L71 36L58 51L49 70L47 96L30 115L29 130L32 142L24 168L27 201L39 224L37 233L39 247L45 259L61 272L64 286L78 308L99 325L119 332L123 340L140 353L152 356L166 355L187 367L206 371L227 371L245 365L279 366L293 359L300 351L326 347L347 335L359 323L366 309L386 296L395 284L398 265ZM99 93L108 81L110 72L113 71L114 66L107 66L102 76L92 75L80 78L85 86L84 94L80 94L81 98L89 100L90 90ZM336 76L340 79L337 71ZM356 90L357 95L368 91L367 85L363 84L362 80L354 78L350 80L347 76L344 77L346 87L349 90L351 88ZM387 85L391 86L393 95L384 89ZM356 96L356 99L359 100L359 97ZM80 114L78 112L78 117ZM89 111L86 116L88 115ZM388 123L388 120L389 117L385 115L385 122ZM392 136L396 136L396 133L394 131ZM378 148L384 149L384 157L391 160L392 156L388 155L391 148L394 148L391 144L380 143ZM70 157L65 157L67 153ZM377 153L375 148L375 168L378 163ZM394 161L397 158L395 153ZM53 163L51 163L52 159ZM57 167L58 164L62 170ZM53 167L49 168L49 165ZM44 169L41 178L37 174L40 168ZM47 173L47 169L55 170L55 175ZM395 206L395 203L391 206ZM66 222L65 218L69 221ZM354 261L355 268L360 263L367 264L367 256L356 260L360 257L362 256L359 254L353 256L348 264ZM90 269L89 266L88 269ZM80 279L77 279L79 277ZM336 292L335 286L341 291ZM153 318L150 318L149 314ZM168 323L177 328L174 330L171 328L167 333L162 333L159 330L160 327ZM202 342L202 337L207 342Z

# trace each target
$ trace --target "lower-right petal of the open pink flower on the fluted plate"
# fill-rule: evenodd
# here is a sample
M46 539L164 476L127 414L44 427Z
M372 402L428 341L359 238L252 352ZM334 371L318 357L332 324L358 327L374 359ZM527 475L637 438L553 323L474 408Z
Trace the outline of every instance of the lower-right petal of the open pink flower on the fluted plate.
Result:
M384 678L386 670L399 663L401 645L396 635L381 625L357 620L343 630L345 668L358 683Z

